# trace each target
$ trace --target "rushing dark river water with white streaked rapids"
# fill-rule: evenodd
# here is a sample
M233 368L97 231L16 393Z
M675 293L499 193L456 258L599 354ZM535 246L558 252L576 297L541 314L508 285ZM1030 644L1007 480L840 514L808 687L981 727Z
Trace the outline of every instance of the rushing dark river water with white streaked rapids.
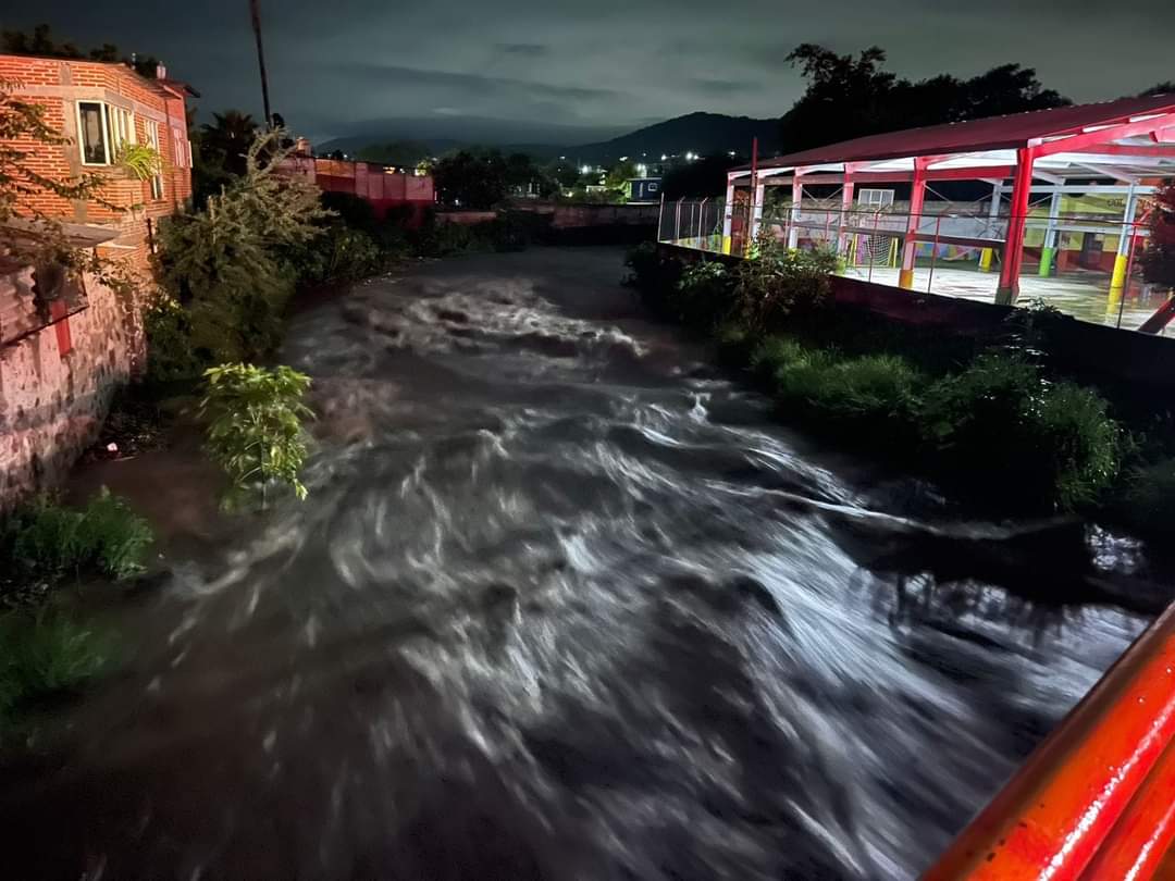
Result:
M620 273L470 257L297 316L309 500L112 612L127 668L0 788L2 874L925 868L1143 618L892 564L999 531L781 428Z

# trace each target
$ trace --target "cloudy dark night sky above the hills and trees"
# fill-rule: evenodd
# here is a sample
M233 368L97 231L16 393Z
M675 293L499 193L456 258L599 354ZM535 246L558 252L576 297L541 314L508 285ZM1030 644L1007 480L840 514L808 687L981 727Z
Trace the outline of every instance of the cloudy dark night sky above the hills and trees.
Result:
M1015 61L1076 101L1175 79L1173 0L262 0L274 109L316 141L360 132L576 143L691 110L778 116L800 42L877 43L889 69ZM39 0L5 28L154 54L202 113L260 113L246 0ZM24 9L34 9L25 12ZM394 121L403 121L396 125Z

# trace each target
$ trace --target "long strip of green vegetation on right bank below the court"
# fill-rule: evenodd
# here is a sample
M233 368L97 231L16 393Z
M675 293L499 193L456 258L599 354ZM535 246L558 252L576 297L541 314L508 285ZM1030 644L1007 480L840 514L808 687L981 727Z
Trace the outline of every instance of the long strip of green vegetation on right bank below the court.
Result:
M785 419L838 445L926 473L969 503L1008 513L1108 504L1130 435L1097 391L1042 363L1039 322L1020 310L996 341L938 339L855 327L831 307L830 255L763 242L736 268L630 254L632 283L657 312L712 336ZM1139 486L1154 480L1140 478Z

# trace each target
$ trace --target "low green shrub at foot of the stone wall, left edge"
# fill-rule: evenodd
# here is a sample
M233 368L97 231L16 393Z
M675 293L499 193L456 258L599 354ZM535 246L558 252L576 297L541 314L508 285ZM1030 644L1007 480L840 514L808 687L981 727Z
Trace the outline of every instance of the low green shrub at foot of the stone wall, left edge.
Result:
M153 540L147 522L106 487L81 510L42 497L14 512L2 536L6 556L29 577L129 578L143 571Z

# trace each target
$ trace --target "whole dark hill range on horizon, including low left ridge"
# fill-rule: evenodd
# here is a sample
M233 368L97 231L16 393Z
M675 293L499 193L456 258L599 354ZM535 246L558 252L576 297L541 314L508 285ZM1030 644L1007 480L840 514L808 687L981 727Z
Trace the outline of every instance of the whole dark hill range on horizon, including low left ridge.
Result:
M497 147L503 153L526 153L538 160L566 156L576 163L589 162L607 166L619 160L620 156L660 159L663 154L693 152L706 155L731 150L746 155L750 154L751 140L756 136L759 139L759 154L768 156L778 153L779 133L779 120L777 119L756 120L750 116L726 116L720 113L700 112L638 128L636 132L607 141L595 141L578 146L569 144L566 141L562 143L535 141L519 143L506 139L496 139L482 125L483 121L471 121L465 137L459 136L461 132L457 129L459 123L456 120L450 121L444 132L445 136L436 137L430 136L430 134L439 133L417 134L419 127L414 126L414 122L404 120L395 128L381 127L377 129L372 126L372 130L367 134L358 132L345 137L336 137L318 144L316 149L320 154L343 150L348 154L363 153L375 159L374 153L378 150L371 148L377 144L403 147L407 143L415 143L422 149L431 150L432 155L448 153L461 147L483 144ZM394 134L383 134L385 132L394 132ZM510 134L515 134L515 132L510 132ZM391 153L396 155L397 161L408 161L402 155L401 149Z

